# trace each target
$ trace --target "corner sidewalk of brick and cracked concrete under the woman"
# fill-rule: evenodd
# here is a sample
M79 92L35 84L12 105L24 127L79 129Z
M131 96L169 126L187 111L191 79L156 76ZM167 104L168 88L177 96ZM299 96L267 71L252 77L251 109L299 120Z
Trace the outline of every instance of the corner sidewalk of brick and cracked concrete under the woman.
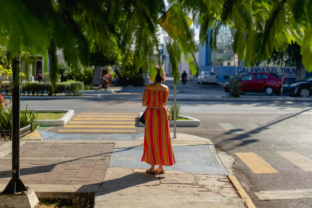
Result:
M60 192L64 196L93 192L97 208L149 207L151 204L156 207L254 207L235 176L228 175L208 139L177 134L177 138L172 139L177 164L166 167L165 174L161 175L145 173L149 165L140 162L142 135L122 141L61 139L21 141L21 179L40 197L47 194L60 197ZM190 151L182 156L183 148ZM11 142L0 142L0 190L11 178L10 152ZM208 163L203 162L203 158L208 158ZM185 168L190 173L181 171Z

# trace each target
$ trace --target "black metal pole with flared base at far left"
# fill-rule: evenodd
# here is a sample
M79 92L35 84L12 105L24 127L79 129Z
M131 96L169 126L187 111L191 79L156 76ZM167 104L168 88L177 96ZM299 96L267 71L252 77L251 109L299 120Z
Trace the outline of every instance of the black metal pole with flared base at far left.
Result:
M28 191L20 179L20 69L21 55L19 51L12 66L12 179L2 194Z

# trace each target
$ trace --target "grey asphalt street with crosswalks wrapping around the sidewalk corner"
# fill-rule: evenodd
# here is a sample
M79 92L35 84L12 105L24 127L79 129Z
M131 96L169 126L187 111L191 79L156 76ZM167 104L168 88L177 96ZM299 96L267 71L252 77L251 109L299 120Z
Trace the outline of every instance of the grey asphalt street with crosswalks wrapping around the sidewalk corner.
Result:
M165 82L173 94L172 79ZM197 85L189 80L178 85L180 94L225 95L223 87ZM73 109L75 115L66 126L41 127L40 130L58 134L123 134L143 133L137 123L144 111L140 98L144 87L126 87L122 92L105 95L102 100L57 99L21 100L21 108ZM256 96L261 93L251 93ZM263 94L261 94L263 95ZM170 102L170 101L168 101ZM310 102L291 101L178 101L181 115L201 121L198 127L177 127L178 133L210 139L222 157L229 155L233 163L226 166L236 176L256 207L311 207L312 199L264 199L260 191L312 189L312 131ZM107 121L96 120L98 115L114 112ZM84 115L92 117L85 122ZM127 115L122 117L122 115ZM128 119L128 120L127 120ZM103 120L103 119L102 119ZM101 126L98 126L101 125ZM170 129L173 136L173 128ZM250 153L250 154L241 154ZM294 156L295 155L295 156ZM261 160L262 159L262 160ZM252 163L261 164L261 168ZM292 193L293 191L290 191Z

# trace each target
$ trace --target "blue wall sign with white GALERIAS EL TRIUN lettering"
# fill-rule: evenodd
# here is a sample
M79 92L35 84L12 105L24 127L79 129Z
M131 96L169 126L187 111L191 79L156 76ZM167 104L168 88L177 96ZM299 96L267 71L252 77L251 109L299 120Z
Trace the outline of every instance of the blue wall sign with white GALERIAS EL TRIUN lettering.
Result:
M296 77L296 67L236 67L235 74L243 75L251 72L275 73L281 77Z

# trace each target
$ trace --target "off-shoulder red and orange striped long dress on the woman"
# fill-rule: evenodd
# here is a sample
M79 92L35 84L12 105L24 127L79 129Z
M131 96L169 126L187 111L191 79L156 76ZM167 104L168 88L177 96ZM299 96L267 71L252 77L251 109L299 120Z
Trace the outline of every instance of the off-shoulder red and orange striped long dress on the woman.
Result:
M143 156L141 161L150 165L172 166L175 163L169 121L166 108L169 91L145 89L143 101L147 101L145 111L145 131Z

